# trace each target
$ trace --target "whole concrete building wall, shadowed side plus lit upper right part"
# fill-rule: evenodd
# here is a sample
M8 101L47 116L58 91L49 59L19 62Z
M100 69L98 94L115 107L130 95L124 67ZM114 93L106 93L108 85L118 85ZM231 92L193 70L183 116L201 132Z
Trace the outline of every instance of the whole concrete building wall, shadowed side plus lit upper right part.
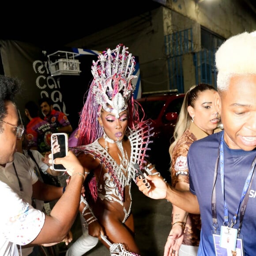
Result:
M241 0L167 0L161 6L128 21L72 42L67 46L105 50L124 43L139 56L142 92L169 90L164 36L192 28L194 51L201 49L200 27L223 38L256 30L256 14ZM195 83L191 56L184 56L184 89Z

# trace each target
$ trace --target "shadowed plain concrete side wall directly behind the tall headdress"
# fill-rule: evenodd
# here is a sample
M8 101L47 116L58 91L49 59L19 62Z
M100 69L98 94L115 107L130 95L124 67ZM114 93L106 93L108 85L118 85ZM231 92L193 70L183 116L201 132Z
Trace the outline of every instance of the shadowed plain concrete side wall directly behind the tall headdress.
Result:
M123 43L139 56L142 91L158 90L167 86L162 12L162 7L155 9L68 46L103 51Z

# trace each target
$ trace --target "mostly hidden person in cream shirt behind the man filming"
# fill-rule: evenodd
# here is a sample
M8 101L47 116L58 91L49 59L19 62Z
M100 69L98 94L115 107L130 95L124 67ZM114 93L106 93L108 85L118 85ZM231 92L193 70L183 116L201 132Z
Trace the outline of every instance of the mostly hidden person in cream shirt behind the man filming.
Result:
M17 131L22 129L17 129ZM21 133L21 132L20 132ZM19 137L20 134L17 136ZM60 172L51 170L48 165L42 162L43 156L39 151L30 151L34 158L28 155L27 150L23 150L23 138L17 138L14 160L11 165L5 166L5 171L0 172L0 181L8 184L24 201L30 203L34 208L50 214L49 203L44 201L58 200L63 194L63 187L45 184L41 173L47 171L54 175L59 175ZM45 160L46 158L44 158ZM53 173L52 173L53 172ZM58 248L55 246L54 248ZM22 248L22 255L39 256L39 247Z

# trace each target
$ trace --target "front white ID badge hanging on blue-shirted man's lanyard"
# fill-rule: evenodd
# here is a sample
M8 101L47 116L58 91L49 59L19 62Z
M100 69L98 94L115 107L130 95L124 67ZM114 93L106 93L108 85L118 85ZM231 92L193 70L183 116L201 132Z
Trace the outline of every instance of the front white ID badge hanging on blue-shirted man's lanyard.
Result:
M219 246L235 250L237 245L237 229L221 226Z

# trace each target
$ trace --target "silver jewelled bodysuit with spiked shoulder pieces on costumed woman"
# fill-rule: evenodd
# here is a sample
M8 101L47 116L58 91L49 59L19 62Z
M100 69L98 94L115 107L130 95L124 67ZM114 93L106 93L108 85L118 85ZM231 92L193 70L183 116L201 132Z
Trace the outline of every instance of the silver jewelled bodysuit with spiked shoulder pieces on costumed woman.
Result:
M76 154L83 151L85 154L92 154L94 158L98 158L105 166L108 172L103 174L104 184L97 185L98 198L101 200L107 200L109 202L117 202L123 207L124 219L123 223L127 220L131 212L132 196L131 196L131 181L136 181L136 169L134 164L139 164L143 169L145 163L144 158L146 154L147 145L151 143L150 136L152 128L149 124L140 124L135 130L130 130L128 139L131 144L131 157L130 161L127 161L128 156L125 154L125 159L120 158L120 165L111 157L108 151L98 143L98 139L93 143L86 146L75 147ZM121 143L121 142L120 142ZM103 188L104 186L104 188ZM127 207L124 207L124 188L129 186L129 196L131 203Z

